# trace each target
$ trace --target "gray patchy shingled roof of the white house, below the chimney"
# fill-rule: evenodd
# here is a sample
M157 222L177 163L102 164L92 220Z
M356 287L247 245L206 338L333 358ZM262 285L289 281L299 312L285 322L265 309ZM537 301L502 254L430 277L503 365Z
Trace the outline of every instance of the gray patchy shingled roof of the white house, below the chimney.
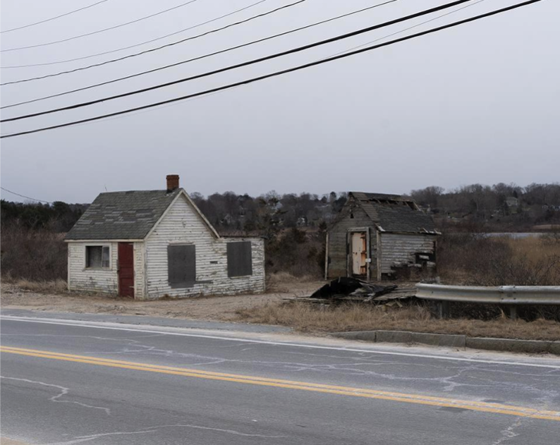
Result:
M141 240L183 189L101 193L66 240Z

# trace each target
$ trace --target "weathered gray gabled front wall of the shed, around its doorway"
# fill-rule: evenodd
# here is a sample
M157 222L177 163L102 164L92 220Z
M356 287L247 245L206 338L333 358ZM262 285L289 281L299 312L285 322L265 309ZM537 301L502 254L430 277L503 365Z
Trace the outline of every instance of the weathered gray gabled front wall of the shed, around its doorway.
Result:
M353 218L351 218L353 214ZM349 200L341 210L339 221L336 221L329 229L329 264L327 267L327 278L334 279L337 276L348 274L348 231L353 228L370 228L370 276L372 279L377 275L377 237L375 235L375 224L370 217L365 214L361 207ZM327 260L328 261L328 260Z

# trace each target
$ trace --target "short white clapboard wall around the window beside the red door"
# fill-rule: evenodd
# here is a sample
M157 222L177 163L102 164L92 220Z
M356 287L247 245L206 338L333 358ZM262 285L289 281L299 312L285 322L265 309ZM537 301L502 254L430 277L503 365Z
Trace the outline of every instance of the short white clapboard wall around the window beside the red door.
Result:
M109 269L85 267L86 245L109 245L111 261ZM117 273L118 243L68 243L68 289L71 291L118 293Z

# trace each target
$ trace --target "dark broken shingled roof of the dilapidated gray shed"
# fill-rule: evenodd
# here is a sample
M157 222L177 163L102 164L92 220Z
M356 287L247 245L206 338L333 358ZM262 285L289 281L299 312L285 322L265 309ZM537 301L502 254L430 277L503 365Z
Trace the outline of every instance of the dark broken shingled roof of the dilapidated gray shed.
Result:
M438 233L434 220L413 200L401 195L350 192L379 230L399 233Z

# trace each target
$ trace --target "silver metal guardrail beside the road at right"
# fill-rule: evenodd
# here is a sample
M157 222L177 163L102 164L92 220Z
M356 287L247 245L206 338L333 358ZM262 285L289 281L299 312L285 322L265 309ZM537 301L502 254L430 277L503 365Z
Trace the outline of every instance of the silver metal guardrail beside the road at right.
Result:
M426 300L504 305L560 305L560 286L445 286L416 284L416 297Z

